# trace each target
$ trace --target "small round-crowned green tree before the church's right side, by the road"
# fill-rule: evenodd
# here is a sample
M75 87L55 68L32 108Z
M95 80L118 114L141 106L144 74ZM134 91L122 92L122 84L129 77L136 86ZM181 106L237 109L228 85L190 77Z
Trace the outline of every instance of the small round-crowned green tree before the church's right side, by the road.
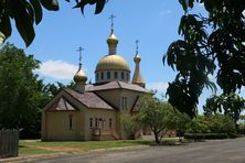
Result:
M139 119L145 127L149 127L155 134L156 143L160 144L164 133L171 129L173 109L168 102L163 102L151 95L140 99Z

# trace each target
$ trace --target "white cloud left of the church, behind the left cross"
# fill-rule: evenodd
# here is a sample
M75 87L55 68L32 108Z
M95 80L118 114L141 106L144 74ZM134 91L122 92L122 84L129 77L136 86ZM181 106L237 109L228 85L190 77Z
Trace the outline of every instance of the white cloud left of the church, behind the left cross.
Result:
M78 66L63 61L46 61L36 72L54 79L72 79Z

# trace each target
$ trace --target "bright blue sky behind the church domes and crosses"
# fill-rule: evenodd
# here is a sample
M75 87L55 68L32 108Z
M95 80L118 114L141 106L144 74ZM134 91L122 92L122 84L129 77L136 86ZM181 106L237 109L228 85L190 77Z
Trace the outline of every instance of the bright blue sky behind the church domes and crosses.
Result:
M24 48L28 54L42 62L39 74L45 83L67 84L77 70L78 46L83 46L83 67L94 83L94 70L100 57L107 54L106 39L110 31L109 15L115 19L115 34L119 39L118 53L124 56L134 73L136 40L140 41L141 73L149 89L157 89L159 96L166 93L168 82L175 73L163 66L162 56L171 42L180 39L178 25L183 10L178 0L109 0L102 14L94 14L94 7L85 8L85 15L74 3L60 1L58 12L44 11L43 21L35 26L35 40L25 47L15 29L8 40ZM204 13L202 6L194 11ZM201 106L211 91L200 98ZM202 112L202 111L201 111Z

